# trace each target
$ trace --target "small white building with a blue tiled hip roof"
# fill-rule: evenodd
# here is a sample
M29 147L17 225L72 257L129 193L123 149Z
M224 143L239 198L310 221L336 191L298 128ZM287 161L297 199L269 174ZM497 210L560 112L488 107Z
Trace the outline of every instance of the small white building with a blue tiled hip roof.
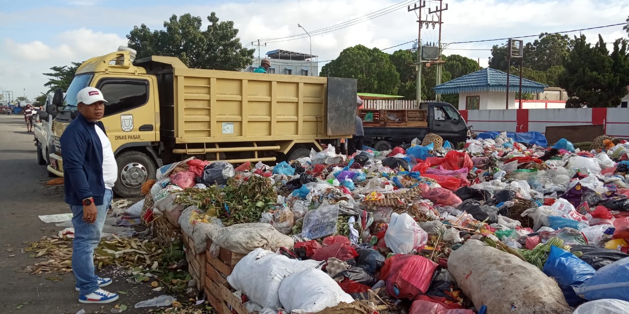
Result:
M540 93L548 85L522 78L523 93ZM520 77L509 75L509 109L516 109ZM459 110L506 109L507 73L484 68L434 87L437 94L459 94ZM456 106L456 104L454 104Z

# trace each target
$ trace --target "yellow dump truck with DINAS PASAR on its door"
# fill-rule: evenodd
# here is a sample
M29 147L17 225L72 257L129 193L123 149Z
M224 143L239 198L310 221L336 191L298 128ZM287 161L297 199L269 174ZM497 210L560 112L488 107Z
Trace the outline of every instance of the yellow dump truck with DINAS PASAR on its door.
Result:
M58 176L59 138L87 86L108 100L101 121L118 163L114 192L121 197L139 196L159 166L189 156L294 160L350 138L355 129L356 81L350 78L201 70L175 57L132 60L129 51L116 51L84 62L65 99L61 90L55 93L48 171Z

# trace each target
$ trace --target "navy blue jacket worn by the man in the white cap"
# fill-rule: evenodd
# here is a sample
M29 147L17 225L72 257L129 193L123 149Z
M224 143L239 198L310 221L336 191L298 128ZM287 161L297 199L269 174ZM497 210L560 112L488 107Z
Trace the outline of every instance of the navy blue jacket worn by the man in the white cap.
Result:
M103 205L103 145L94 125L103 129L103 122L89 122L81 114L66 127L59 141L64 159L64 201L83 205L82 200L94 198Z

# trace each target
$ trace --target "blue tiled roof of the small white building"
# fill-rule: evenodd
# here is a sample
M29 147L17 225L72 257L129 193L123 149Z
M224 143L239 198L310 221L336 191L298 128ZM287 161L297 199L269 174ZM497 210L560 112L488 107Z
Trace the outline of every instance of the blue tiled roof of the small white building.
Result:
M523 93L540 93L548 85L522 78ZM509 75L509 91L518 92L520 77ZM437 94L458 94L466 92L506 92L507 73L494 68L484 68L434 87Z

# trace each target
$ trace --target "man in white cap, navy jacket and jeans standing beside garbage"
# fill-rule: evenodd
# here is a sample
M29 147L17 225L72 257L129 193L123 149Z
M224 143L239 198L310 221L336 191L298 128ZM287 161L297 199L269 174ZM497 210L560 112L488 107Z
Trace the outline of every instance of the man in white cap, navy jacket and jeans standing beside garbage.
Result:
M105 134L103 117L105 100L100 90L86 87L77 94L79 114L60 138L64 154L64 200L72 209L74 249L72 272L81 303L109 303L118 300L116 293L101 289L111 278L94 274L94 249L101 232L116 182L118 166Z

